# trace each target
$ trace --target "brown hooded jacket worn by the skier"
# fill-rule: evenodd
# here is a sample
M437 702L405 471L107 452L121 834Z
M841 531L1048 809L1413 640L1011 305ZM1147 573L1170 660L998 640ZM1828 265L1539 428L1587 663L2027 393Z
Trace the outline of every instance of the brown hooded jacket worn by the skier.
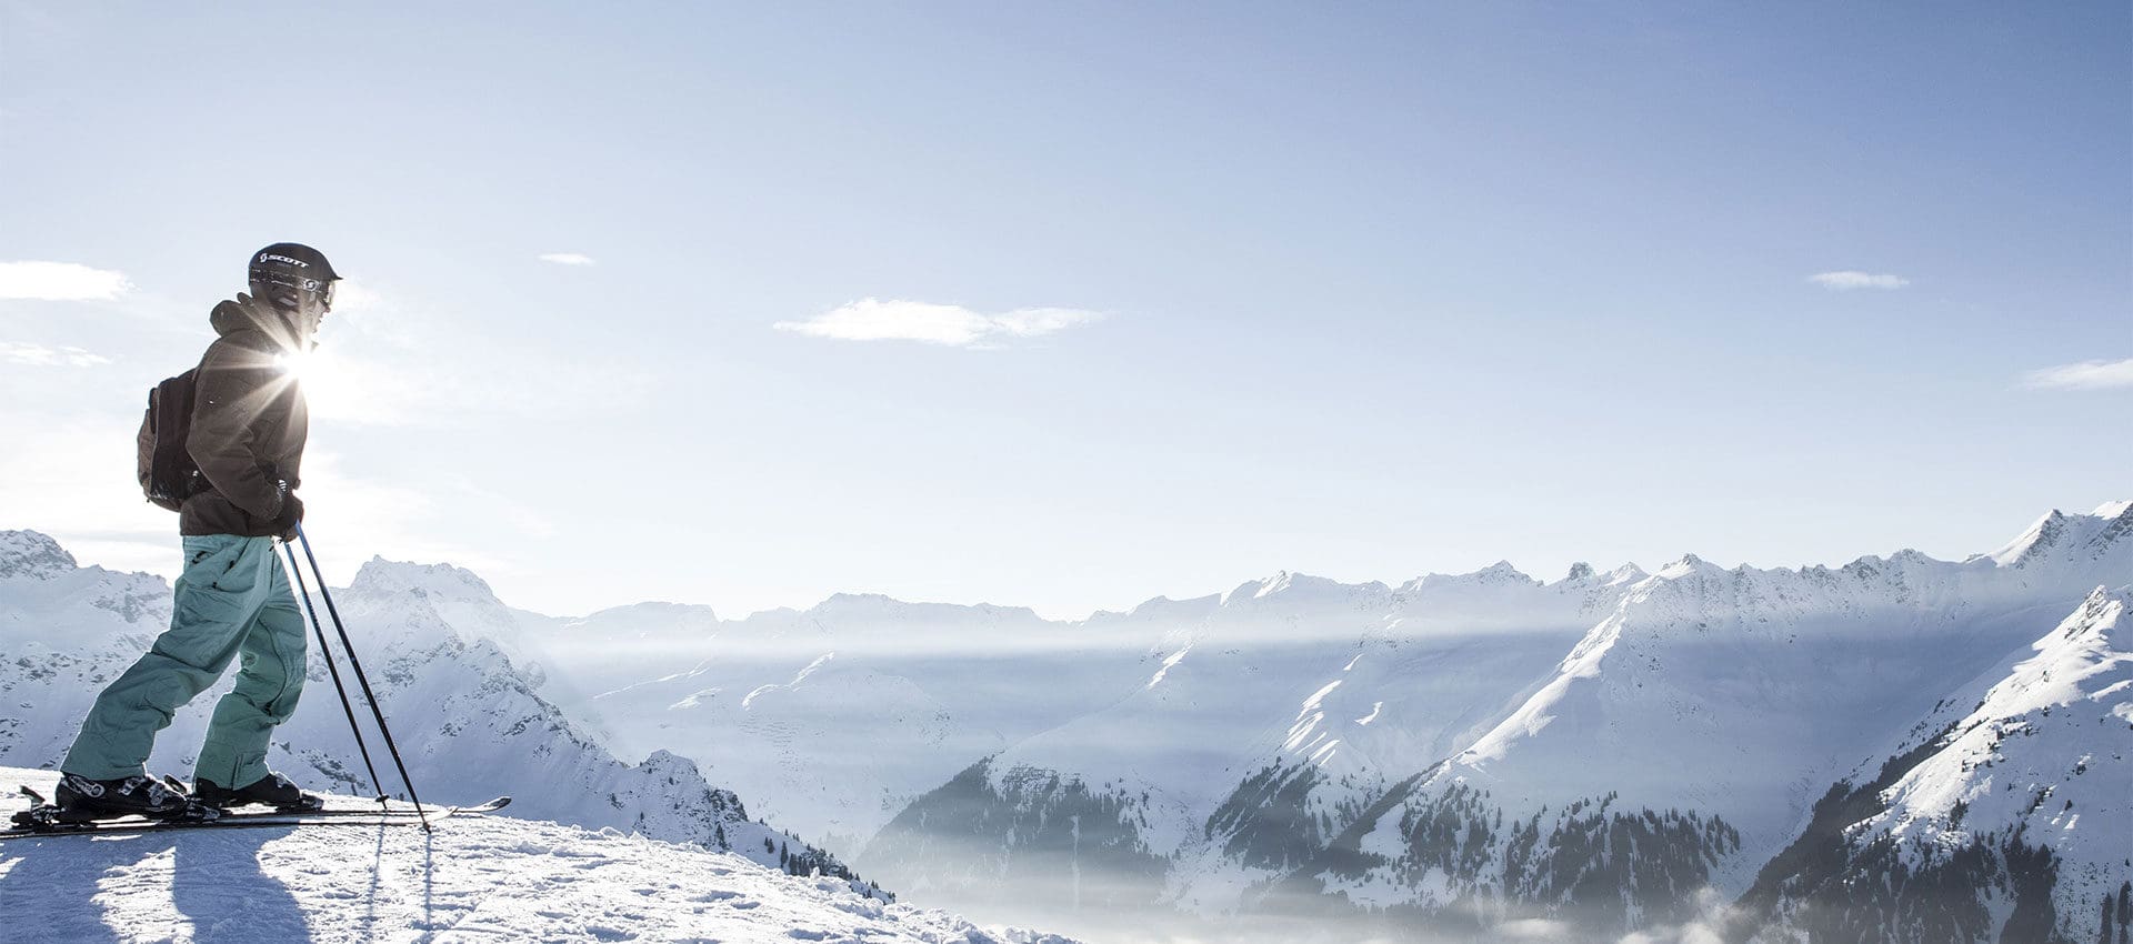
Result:
M239 294L207 315L215 343L194 379L186 452L209 488L177 511L179 535L273 537L279 482L296 490L311 418L284 358L301 349L288 315Z

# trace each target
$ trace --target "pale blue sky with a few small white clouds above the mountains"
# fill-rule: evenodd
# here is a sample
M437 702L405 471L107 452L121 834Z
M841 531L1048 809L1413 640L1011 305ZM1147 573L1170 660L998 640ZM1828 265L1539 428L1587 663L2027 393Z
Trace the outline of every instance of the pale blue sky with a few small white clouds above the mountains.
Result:
M143 390L294 239L352 277L337 577L1081 616L1984 552L2133 497L2129 53L2124 4L0 4L0 526L169 571Z

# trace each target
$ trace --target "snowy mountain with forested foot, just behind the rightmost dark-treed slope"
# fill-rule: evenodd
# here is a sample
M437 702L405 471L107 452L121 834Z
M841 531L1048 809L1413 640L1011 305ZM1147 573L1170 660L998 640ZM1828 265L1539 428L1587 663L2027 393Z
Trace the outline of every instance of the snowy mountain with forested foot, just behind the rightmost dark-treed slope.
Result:
M2007 558L1898 552L1726 571L1685 556L1623 597L1502 722L1391 791L1335 844L1344 865L1305 872L1359 901L1423 897L1615 933L1704 886L1741 895L1826 818L1830 782L1883 744L1945 727L1932 718L2028 652L2039 622L2133 573L2129 511L2105 509L2118 516L2046 516L2056 524L2031 528ZM2069 729L2058 750L2086 752L2099 735ZM1604 818L1557 820L1581 805ZM1617 848L1619 829L1645 835ZM1474 840L1448 840L1465 831ZM2133 816L2118 805L2088 831L2127 835ZM1519 848L1595 844L1630 859L1610 872L1551 865L1553 878L1517 865ZM1615 906L1595 908L1595 889L1572 895L1600 876Z

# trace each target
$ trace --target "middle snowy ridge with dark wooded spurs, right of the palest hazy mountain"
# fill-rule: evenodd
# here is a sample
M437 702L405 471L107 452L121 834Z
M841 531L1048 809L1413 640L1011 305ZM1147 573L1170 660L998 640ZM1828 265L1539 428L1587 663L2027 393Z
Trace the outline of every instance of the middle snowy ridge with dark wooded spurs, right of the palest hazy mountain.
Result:
M1585 567L1544 584L1495 565L1391 588L1278 573L1105 614L1090 622L1107 637L1148 639L1135 686L921 797L860 863L902 886L1013 899L1000 872L964 865L973 840L956 823L990 823L1013 855L1058 857L1056 840L1009 825L1073 820L1088 835L1101 818L1113 869L1150 882L1113 899L1235 910L1254 882L1316 855L1389 774L1512 707L1638 575ZM947 835L924 835L943 820Z

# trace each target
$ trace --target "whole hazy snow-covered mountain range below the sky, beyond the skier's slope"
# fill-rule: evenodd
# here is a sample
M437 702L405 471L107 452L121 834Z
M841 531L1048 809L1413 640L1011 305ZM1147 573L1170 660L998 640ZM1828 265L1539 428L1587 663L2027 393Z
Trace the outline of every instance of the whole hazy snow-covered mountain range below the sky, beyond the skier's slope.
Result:
M1081 622L843 595L548 618L384 560L337 601L424 799L791 831L985 921L2095 942L2133 921L2129 595L2133 503L1958 563L1280 573ZM0 535L0 763L55 763L166 614L156 577ZM279 769L350 780L322 671L286 733Z

